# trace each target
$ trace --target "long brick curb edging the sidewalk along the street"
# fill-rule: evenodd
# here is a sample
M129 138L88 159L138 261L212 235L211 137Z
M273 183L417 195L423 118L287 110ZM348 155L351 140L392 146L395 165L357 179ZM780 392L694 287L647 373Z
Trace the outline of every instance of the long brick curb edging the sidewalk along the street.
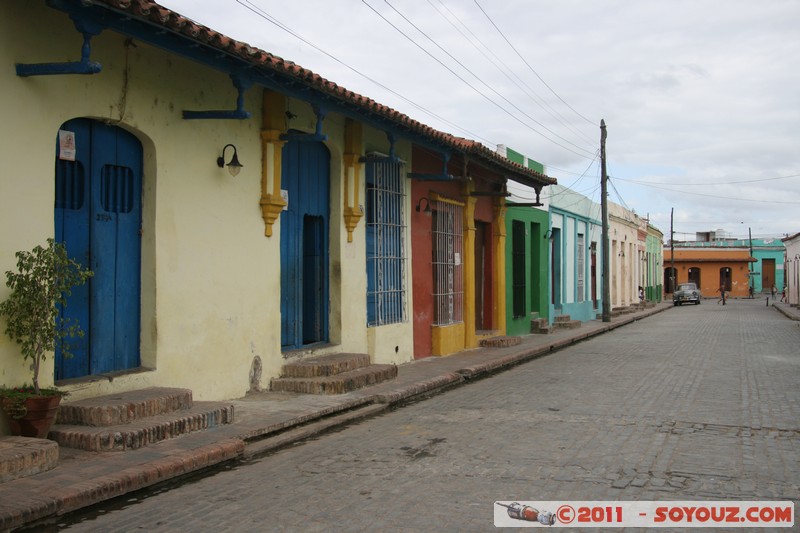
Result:
M426 399L469 381L489 377L671 308L671 305L658 305L635 315L617 317L615 322L601 325L594 321L589 322L587 324L592 326L590 331L554 339L551 343L535 348L489 348L487 350L491 350L490 353L494 355L480 363L444 371L422 381L401 385L389 392L365 394L278 423L220 436L212 444L189 447L170 452L164 457L143 460L113 474L87 477L84 482L67 488L41 486L35 482L23 484L24 489L16 492L12 502L7 498L0 501L0 531L12 531L36 523L54 521L61 515L160 483L175 482L181 477L201 473L228 461L254 459L336 427L376 416L392 407Z

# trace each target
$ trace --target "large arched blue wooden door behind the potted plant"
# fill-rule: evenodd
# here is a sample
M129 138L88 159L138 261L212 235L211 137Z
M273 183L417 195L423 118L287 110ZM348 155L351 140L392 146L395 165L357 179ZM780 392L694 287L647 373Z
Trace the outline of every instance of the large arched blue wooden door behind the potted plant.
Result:
M65 316L86 332L56 350L56 379L139 366L142 147L114 126L75 119L75 160L56 146L55 235L94 272L74 290Z

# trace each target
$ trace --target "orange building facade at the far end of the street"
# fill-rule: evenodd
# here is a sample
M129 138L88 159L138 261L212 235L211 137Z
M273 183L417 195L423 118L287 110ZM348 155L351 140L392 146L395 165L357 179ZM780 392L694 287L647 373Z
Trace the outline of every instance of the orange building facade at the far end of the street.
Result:
M746 298L750 295L749 265L755 261L750 252L742 248L676 249L673 261L672 252L666 246L664 290L670 294L677 284L695 283L704 298L719 296L720 286L725 287L729 297Z

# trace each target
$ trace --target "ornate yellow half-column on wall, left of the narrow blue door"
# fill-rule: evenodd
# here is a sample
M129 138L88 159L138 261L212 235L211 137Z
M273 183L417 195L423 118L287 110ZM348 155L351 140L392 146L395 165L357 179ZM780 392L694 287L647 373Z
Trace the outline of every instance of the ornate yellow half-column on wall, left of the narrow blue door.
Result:
M264 91L262 102L263 124L261 130L261 216L264 218L264 235L272 237L272 225L286 207L281 196L280 135L286 131L286 97Z

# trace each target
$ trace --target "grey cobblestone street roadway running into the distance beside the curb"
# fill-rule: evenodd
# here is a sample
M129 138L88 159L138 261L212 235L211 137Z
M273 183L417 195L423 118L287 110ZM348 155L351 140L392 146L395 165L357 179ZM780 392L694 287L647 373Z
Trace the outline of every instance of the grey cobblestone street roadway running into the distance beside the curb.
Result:
M799 345L800 324L761 300L669 309L60 527L491 531L496 500L797 509Z

